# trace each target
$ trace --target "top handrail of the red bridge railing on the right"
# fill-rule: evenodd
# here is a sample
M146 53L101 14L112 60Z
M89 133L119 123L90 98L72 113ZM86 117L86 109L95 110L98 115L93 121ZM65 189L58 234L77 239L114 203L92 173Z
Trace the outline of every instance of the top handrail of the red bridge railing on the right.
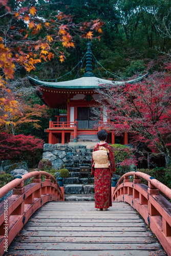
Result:
M136 175L139 178L143 178L144 180L150 182L154 187L159 189L166 197L171 199L171 189L170 188L168 188L162 182L154 179L152 176L150 176L148 174L141 173L141 172L136 172L136 171L135 172L129 172L129 173L126 173L126 174L122 175L122 177L118 180L118 183L116 184L116 187L115 187L114 191L116 190L117 186L119 184L121 184L121 182L124 180L124 177L130 177L130 176L134 176L134 175Z

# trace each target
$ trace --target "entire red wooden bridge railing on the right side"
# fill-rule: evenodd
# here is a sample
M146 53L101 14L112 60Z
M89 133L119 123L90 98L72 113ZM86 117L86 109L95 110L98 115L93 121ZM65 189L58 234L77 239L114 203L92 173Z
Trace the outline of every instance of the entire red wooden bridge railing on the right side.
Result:
M134 176L133 182L129 177ZM143 178L148 186L141 184ZM141 172L123 175L113 191L113 201L124 201L133 206L155 233L168 256L171 256L171 189Z

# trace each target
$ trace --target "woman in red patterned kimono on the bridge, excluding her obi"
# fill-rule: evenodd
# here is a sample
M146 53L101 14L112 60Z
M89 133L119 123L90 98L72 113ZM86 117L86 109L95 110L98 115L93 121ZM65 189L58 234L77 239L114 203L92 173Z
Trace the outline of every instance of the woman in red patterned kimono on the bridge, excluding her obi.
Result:
M100 140L94 146L94 151L98 151L104 147L104 150L108 151L109 167L108 168L95 168L93 156L92 156L92 173L94 175L94 189L95 189L95 208L97 210L108 210L112 206L112 193L111 193L111 177L115 172L115 159L112 147L105 142L108 133L101 130L97 133L97 137ZM100 147L100 148L99 148Z

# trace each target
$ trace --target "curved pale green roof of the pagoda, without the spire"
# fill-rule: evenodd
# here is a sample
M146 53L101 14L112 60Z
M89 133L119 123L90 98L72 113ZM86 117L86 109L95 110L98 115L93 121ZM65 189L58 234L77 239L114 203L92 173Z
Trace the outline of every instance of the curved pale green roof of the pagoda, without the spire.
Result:
M81 77L74 80L69 81L63 81L63 82L45 82L38 79L35 79L33 77L28 76L28 79L31 83L33 83L35 86L43 86L53 89L97 89L100 84L109 85L112 86L114 84L118 84L120 86L124 85L125 83L134 83L142 80L143 78L147 77L148 73L140 76L133 80L128 81L110 81L106 79L101 79L98 77Z

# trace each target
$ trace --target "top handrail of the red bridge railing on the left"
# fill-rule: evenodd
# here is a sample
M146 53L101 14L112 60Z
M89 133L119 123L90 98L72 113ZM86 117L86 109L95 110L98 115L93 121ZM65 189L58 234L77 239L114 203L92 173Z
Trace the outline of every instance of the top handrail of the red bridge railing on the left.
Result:
M22 178L16 178L16 179L10 181L9 183L7 183L6 185L4 185L3 187L1 187L0 188L0 198L4 197L10 190L12 190L16 186L18 186L22 181L26 181L26 180L33 178L35 176L38 176L38 175L44 175L44 176L48 177L49 179L53 180L54 183L57 184L58 188L60 189L59 184L57 183L56 179L51 174L44 172L42 170L40 170L40 171L35 170L34 172L24 174L22 176Z

